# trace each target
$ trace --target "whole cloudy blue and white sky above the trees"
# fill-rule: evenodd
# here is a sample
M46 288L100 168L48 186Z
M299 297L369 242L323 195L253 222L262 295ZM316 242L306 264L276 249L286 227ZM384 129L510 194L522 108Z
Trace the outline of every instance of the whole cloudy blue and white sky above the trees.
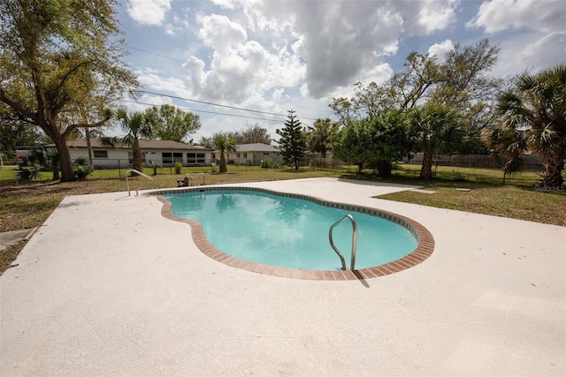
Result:
M489 38L493 73L566 62L564 0L120 0L126 63L149 92L201 117L197 142L260 124L275 133L287 110L303 125L332 117L333 97L383 83L412 51L441 55Z

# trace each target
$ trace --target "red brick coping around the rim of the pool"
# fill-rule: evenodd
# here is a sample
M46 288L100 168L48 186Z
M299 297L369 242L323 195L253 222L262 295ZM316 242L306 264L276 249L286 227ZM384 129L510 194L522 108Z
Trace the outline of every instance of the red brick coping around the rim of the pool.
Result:
M218 250L214 245L210 244L209 240L204 236L203 226L200 222L195 220L182 219L171 212L171 202L165 200L162 194L180 193L180 192L198 192L198 191L210 191L210 190L245 190L245 191L256 191L256 192L267 192L278 196L293 197L302 200L310 200L316 202L317 204L324 205L326 207L337 207L340 209L346 209L356 212L361 212L370 215L377 215L388 221L395 222L402 227L409 230L413 237L417 238L418 245L417 248L401 259L393 260L389 263L372 267L372 268L361 268L355 271L352 270L306 270L297 268L283 268L278 266L265 265L262 263L257 263L250 260L241 260L232 255L226 254ZM161 208L161 215L166 219L173 220L176 222L185 222L190 225L191 236L195 245L199 250L205 255L209 256L213 260L217 260L221 263L231 266L233 268L241 268L248 271L256 272L258 274L274 275L281 277L290 277L293 279L303 279L303 280L328 280L328 281L343 281L343 280L359 280L359 279L371 279L374 277L391 275L400 272L407 268L412 268L420 264L428 257L432 255L434 250L434 238L432 234L428 231L422 224L416 222L403 215L397 215L391 212L383 211L380 209L375 209L371 207L362 207L346 203L337 203L328 200L318 199L312 196L285 193L285 192L274 192L271 190L251 188L251 187L208 187L208 188L192 188L184 190L175 191L160 191L160 192L148 192L146 195L156 196L157 200L163 203Z

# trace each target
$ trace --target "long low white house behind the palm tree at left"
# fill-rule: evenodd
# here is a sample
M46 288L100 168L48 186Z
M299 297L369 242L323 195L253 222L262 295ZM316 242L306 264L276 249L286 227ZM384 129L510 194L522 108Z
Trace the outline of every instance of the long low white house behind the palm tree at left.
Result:
M83 157L88 161L88 147L86 139L67 141L67 147L74 161ZM103 147L100 139L90 139L95 169L126 168L132 164L132 147ZM171 166L181 162L183 166L210 166L210 148L187 145L171 140L140 140L142 149L142 162L151 166L160 163L162 166ZM49 153L55 149L55 144L45 146Z

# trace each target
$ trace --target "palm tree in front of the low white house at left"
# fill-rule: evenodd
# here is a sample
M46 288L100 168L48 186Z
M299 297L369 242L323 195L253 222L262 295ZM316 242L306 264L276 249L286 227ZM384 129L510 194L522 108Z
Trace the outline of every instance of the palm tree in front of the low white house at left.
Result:
M127 146L132 147L132 169L142 171L142 148L140 139L149 139L152 136L152 128L156 124L155 118L151 117L148 111L128 112L127 109L119 109L116 112L116 119L119 121L126 136L101 138L104 147Z

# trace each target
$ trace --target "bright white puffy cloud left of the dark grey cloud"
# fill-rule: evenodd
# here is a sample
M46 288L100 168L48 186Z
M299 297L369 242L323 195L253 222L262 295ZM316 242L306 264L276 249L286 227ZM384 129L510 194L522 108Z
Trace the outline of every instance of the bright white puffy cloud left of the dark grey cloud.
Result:
M264 107L264 94L272 88L294 87L302 79L304 67L290 49L266 49L259 41L249 40L244 27L226 16L201 15L197 21L201 25L197 36L211 52L209 64L196 57L183 64L194 94L207 101L255 102Z

